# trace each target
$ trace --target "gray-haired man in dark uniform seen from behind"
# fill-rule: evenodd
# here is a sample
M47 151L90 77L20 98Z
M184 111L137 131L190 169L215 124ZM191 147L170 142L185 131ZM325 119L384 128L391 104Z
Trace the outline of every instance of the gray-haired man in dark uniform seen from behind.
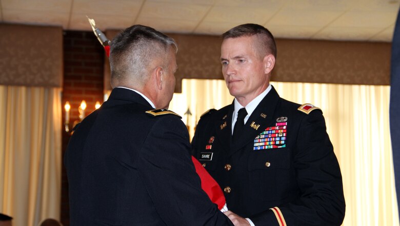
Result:
M135 25L111 42L109 99L65 154L71 225L229 225L201 188L180 117L166 109L176 43Z

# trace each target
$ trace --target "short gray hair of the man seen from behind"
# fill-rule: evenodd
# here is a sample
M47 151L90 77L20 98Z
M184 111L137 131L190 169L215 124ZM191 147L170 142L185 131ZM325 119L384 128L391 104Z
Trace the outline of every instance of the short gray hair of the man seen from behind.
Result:
M168 67L171 48L177 52L175 40L153 28L134 25L125 29L110 44L111 86L124 85L127 79L143 85L152 61L163 59Z

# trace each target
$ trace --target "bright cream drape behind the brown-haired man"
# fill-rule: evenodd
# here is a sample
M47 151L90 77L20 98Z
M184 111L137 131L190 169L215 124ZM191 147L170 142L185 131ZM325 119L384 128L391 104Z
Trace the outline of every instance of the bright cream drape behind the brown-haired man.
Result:
M389 91L385 85L271 82L278 94L320 107L343 175L343 225L399 225L389 133ZM209 108L230 104L223 80L186 80L170 109L194 125ZM192 116L184 115L190 108Z

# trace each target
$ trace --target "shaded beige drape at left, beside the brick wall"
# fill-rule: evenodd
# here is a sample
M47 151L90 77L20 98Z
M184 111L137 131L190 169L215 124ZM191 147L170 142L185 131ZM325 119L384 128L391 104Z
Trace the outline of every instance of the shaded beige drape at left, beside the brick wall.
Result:
M61 89L0 85L0 212L14 226L59 219Z

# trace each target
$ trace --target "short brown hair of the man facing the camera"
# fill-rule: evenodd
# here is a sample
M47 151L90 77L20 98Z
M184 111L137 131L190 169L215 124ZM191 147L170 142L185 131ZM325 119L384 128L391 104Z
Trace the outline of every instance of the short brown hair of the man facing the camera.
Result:
M222 34L222 39L227 38L238 38L243 36L258 36L259 45L262 49L266 50L266 54L270 53L276 58L276 44L274 36L268 29L261 25L256 24L244 24L236 26L229 31Z

